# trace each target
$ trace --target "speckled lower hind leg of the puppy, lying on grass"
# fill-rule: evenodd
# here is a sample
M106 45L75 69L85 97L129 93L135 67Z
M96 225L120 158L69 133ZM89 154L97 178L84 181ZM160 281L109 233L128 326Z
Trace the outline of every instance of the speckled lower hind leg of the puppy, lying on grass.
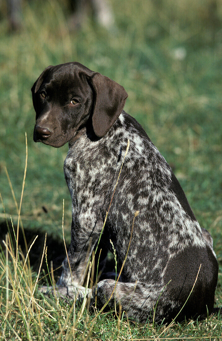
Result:
M127 312L129 317L145 323L150 313L153 312L153 307L156 306L162 288L158 285L144 283L117 282L113 296L109 300L115 283L115 280L112 279L103 280L98 283L97 287L92 288L94 300L97 297L97 307L101 309L108 302L107 306L113 310L116 301L117 309L121 305L122 311Z

